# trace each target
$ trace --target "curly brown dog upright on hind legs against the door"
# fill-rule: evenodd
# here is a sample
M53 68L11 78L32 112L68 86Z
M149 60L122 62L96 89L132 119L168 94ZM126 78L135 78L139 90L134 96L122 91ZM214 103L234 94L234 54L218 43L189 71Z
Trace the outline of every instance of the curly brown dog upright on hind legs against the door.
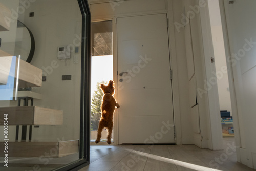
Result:
M111 144L111 135L113 131L113 114L115 108L119 108L119 104L113 97L115 94L114 81L110 80L108 85L100 84L100 89L104 93L101 101L101 118L99 121L99 127L97 132L96 143L100 142L101 132L106 127L108 129L108 136L106 137L106 142Z

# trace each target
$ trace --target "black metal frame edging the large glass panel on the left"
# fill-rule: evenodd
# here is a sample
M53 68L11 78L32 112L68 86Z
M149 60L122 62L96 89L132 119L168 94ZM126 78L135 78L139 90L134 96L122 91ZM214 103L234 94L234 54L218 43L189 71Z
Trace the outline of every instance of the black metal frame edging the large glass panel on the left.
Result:
M77 0L82 15L80 140L77 162L57 170L79 170L90 163L91 13L87 0Z

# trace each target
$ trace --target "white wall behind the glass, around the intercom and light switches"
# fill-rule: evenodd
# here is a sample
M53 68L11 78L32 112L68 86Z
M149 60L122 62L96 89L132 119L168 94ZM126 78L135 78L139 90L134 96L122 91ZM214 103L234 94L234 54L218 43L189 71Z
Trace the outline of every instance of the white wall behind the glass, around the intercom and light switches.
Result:
M35 106L63 110L63 125L40 126L32 130L32 141L58 141L79 139L80 130L80 73L81 73L81 23L82 17L77 1L46 0L20 4L21 20L33 33L35 54L31 64L43 70L47 81L33 88L42 94L42 100L34 99ZM29 17L34 12L34 17ZM71 59L57 59L60 46L72 47ZM79 63L73 62L74 47L79 47ZM62 75L71 75L72 80L62 81ZM6 104L5 104L6 105ZM11 106L17 106L12 101ZM9 133L10 140L15 133Z

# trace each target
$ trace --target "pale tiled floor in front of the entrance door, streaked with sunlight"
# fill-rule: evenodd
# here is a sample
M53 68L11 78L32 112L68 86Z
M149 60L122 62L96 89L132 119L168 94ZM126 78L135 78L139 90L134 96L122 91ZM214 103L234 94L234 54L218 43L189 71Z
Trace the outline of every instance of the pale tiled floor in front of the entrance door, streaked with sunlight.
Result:
M90 165L80 171L132 170L253 170L236 162L234 138L224 138L224 150L195 145L91 146Z

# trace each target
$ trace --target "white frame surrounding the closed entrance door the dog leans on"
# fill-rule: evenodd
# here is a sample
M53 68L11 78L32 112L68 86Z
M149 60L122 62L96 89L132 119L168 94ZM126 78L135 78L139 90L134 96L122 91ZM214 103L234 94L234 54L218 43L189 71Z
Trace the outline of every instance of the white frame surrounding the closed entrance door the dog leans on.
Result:
M181 119L180 119L180 104L179 104L179 84L178 84L178 75L177 75L177 59L176 59L176 47L175 47L175 28L174 28L174 19L173 19L173 0L168 1L168 11L158 11L158 12L145 12L140 13L140 15L150 15L150 14L167 14L168 21L169 21L169 51L170 51L170 68L172 69L173 80L172 80L172 89L173 89L173 113L174 113L174 125L176 127L176 136L175 136L175 143L177 145L182 144L182 135L181 135ZM92 3L93 4L93 3ZM127 15L116 15L116 16L97 16L91 18L92 22L103 22L112 20L112 31L113 31L113 80L114 82L118 82L117 76L117 23L116 18L124 17L124 16L136 16L138 14L127 14ZM172 37L172 38L170 38ZM117 87L116 87L117 89ZM175 91L174 91L175 90ZM118 100L118 91L115 91L114 97ZM121 106L120 106L121 107ZM114 133L113 133L113 140L114 145L118 145L118 110L115 110L114 113Z

